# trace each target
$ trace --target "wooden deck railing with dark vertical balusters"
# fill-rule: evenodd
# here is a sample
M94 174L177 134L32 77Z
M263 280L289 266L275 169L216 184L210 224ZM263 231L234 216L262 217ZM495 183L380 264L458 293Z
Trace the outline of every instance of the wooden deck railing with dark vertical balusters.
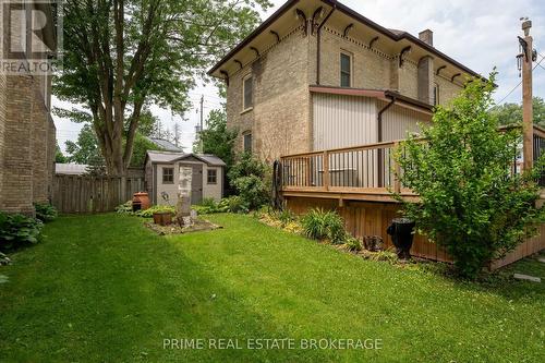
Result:
M282 190L305 192L412 194L396 176L402 173L393 152L402 141L368 144L281 157ZM545 153L545 130L534 128L534 159ZM522 161L513 159L512 172ZM545 186L545 174L540 179Z

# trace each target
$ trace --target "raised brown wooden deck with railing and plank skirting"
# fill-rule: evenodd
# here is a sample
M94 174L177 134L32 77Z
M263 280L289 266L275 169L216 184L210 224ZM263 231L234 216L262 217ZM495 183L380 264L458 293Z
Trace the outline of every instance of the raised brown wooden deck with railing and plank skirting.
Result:
M376 143L356 147L295 154L281 157L281 194L288 208L303 214L313 207L336 209L344 219L347 230L362 239L378 235L391 247L386 229L399 216L399 203L392 193L409 202L419 196L403 187L396 176L402 173L393 152L402 141ZM534 158L545 150L545 131L534 130ZM512 172L520 172L521 160L513 160ZM545 186L545 178L540 181ZM521 244L502 261L491 264L498 268L545 249L545 225L541 235ZM451 258L437 244L416 235L412 253L434 261Z

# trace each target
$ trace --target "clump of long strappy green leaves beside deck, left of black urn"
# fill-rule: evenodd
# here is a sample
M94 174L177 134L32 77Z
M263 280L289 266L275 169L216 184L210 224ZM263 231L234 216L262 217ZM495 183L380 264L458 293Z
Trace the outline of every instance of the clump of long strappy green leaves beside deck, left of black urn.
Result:
M329 239L334 244L344 242L347 232L342 218L335 211L320 208L311 209L301 219L306 237L314 240Z

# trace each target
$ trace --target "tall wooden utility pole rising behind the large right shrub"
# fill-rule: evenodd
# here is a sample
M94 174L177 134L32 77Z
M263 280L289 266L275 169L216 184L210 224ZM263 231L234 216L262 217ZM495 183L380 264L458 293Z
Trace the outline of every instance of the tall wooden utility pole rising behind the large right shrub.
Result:
M524 157L523 170L531 170L534 162L534 117L532 97L532 71L534 60L533 38L530 35L532 21L522 19L524 38L519 37L522 49L522 154Z

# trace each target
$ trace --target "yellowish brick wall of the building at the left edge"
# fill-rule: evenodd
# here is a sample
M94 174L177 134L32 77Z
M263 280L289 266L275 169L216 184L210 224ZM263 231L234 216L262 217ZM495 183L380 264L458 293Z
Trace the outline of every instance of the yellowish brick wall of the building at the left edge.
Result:
M29 1L20 7L27 16L33 11L49 17L52 14L50 5L44 2ZM4 24L9 19L8 12L3 11L5 9L2 8L0 12ZM38 36L49 49L56 49L52 22L48 24L39 34L36 31L26 32L26 41L15 39L20 46L26 45L21 46L20 51L25 60L32 51L31 37ZM28 22L25 25L28 26ZM2 32L5 35L5 29ZM11 38L13 41L13 34ZM2 39L1 61L5 62L13 58L14 50L9 48L7 36ZM44 59L46 57L44 55ZM0 210L33 215L33 203L48 202L50 198L57 145L50 107L50 75L0 70Z

